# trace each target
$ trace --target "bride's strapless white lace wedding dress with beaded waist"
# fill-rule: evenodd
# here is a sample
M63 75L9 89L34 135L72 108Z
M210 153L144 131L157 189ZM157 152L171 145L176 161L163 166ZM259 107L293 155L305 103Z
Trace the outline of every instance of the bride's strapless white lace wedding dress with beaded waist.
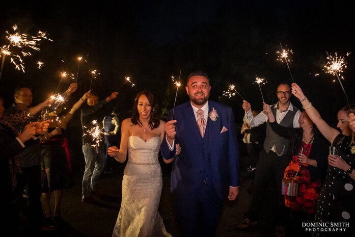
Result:
M158 212L162 189L158 161L160 137L128 137L128 161L122 179L122 202L113 237L169 236Z

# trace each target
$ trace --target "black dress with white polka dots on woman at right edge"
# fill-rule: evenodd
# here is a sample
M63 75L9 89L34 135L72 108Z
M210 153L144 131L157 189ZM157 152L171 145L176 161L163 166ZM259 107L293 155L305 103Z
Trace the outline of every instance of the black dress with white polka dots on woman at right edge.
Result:
M355 154L351 153L349 144L351 137L344 137L339 134L333 146L338 146L338 155L355 168ZM317 231L315 236L352 236L355 227L355 180L343 170L328 166L326 178L319 195L316 209L316 222L341 223L346 227L345 231ZM344 226L348 225L348 226ZM338 227L339 228L339 227Z

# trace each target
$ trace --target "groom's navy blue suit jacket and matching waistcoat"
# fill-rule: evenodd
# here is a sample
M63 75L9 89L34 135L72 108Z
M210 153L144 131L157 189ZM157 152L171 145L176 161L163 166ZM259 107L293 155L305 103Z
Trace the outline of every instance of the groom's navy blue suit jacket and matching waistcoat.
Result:
M230 107L208 101L209 111L216 110L218 117L207 119L202 138L196 123L190 101L175 108L175 144L180 144L181 152L175 158L171 173L171 192L177 195L193 196L207 183L223 200L229 186L239 186L239 146L233 111ZM171 118L171 111L169 118ZM222 130L227 129L226 131ZM161 144L161 154L166 159L175 156L166 139Z

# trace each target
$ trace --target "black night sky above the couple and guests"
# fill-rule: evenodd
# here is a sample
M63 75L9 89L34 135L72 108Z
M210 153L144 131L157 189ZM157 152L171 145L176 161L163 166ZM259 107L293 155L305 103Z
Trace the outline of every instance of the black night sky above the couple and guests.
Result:
M121 101L130 106L136 92L149 89L171 108L176 88L170 77L177 78L180 70L184 78L203 69L211 77L211 99L232 106L241 120L240 98L220 98L228 88L226 82L235 84L245 99L261 109L260 91L253 84L257 74L267 80L262 87L265 100L275 102L276 85L291 83L286 64L276 61L280 43L293 50L294 81L321 113L332 109L334 114L346 103L339 83L332 83L334 78L322 71L322 65L326 51L345 56L354 48L351 1L27 2L2 4L0 43L7 44L5 31L13 24L30 35L46 31L53 42L42 40L41 51L24 58L25 73L15 70L6 58L0 94L7 104L12 102L14 87L21 84L37 90L35 101L44 99L56 90L61 71L76 74L76 58L83 56L78 95L90 88L90 71L97 69L100 74L93 88L103 96L121 88L124 77L130 76L136 86L122 87ZM353 88L351 58L351 54L346 58L343 85L349 100L355 101L348 89ZM45 64L38 69L36 61ZM61 89L69 84L69 79L63 80ZM186 99L184 88L179 89L177 104ZM324 104L332 106L323 109Z

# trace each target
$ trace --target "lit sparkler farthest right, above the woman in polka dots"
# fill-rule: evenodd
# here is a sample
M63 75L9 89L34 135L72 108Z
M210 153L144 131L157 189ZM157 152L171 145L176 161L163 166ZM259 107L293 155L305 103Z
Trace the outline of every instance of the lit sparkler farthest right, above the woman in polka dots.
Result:
M344 77L341 75L341 72L343 72L344 69L347 67L345 59L342 56L338 57L337 53L335 53L335 57L333 57L330 54L328 54L328 52L326 52L326 55L327 55L326 59L328 61L324 64L324 68L326 69L325 72L326 73L330 73L333 76L334 75L337 76L338 81L340 83L340 86L343 89L343 92L345 94L346 102L348 104L348 107L351 110L347 94L346 94L345 89L343 87L343 84L341 83L341 80L340 80L340 78L342 78L342 80L344 80ZM349 56L349 55L350 55L350 53L346 54L346 56Z

